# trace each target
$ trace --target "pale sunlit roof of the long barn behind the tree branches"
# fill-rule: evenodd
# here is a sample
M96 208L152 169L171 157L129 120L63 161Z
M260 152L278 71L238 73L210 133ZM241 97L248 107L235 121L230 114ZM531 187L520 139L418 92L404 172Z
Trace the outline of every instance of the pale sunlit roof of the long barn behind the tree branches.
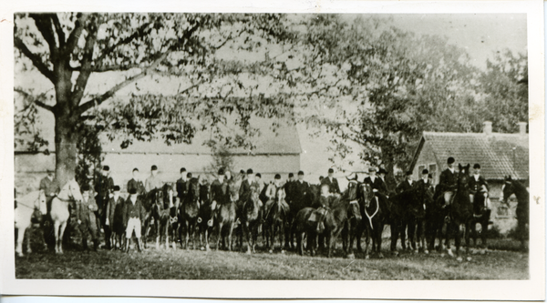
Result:
M232 149L233 154L255 154L255 155L294 155L302 152L300 138L295 126L279 126L275 130L270 129L273 121L253 117L251 126L260 129L260 135L253 136L250 140L255 148L245 150L242 148ZM234 126L237 127L237 126ZM211 154L211 148L204 146L203 142L210 139L209 132L197 132L188 144L166 145L161 139L151 142L133 140L133 143L125 149L120 147L121 139L109 141L107 136L102 136L102 149L105 153L130 153L130 154Z

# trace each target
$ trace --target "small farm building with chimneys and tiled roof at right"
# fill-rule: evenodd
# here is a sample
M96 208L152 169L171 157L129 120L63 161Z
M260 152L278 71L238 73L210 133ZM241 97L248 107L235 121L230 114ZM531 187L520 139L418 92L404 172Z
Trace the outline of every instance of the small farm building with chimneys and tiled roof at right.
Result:
M511 208L502 206L499 197L503 177L527 184L529 179L529 147L526 123L520 123L518 134L493 133L491 122L484 122L482 133L435 133L424 132L410 166L413 176L418 179L420 172L428 168L434 183L439 184L440 172L447 168L447 159L454 157L456 164L471 167L480 164L480 174L490 186L492 217L494 227L502 233L516 226L516 201ZM458 167L456 167L458 169Z

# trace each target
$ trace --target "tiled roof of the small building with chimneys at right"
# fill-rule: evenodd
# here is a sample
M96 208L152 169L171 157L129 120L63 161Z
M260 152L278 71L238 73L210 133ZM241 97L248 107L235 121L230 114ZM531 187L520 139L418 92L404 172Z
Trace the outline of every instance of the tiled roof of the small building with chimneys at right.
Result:
M424 132L423 139L439 164L454 157L462 165L479 163L480 173L487 179L529 177L528 134Z

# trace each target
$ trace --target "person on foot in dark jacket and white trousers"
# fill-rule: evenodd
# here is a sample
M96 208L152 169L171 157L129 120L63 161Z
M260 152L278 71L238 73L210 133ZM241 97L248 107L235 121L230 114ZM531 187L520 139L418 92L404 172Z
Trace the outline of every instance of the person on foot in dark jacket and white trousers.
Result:
M124 202L123 206L123 225L126 227L126 252L129 253L129 245L133 232L137 241L135 242L137 250L140 250L140 229L141 222L144 221L145 211L142 207L141 199L137 195L137 191L131 188L128 199Z

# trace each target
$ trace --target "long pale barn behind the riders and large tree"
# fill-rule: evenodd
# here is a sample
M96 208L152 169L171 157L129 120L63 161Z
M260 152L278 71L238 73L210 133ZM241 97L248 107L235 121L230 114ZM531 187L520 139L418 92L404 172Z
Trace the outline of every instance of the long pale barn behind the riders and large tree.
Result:
M253 119L252 126L261 129L261 135L251 139L255 148L230 150L236 172L253 168L254 172L262 174L265 181L274 179L276 173L286 178L289 173L295 175L301 169L302 149L296 127L279 126L274 132L270 125L271 122L266 119ZM180 178L181 167L185 167L194 177L205 175L210 172L207 167L211 167L213 162L212 149L203 145L209 139L208 133L199 132L191 145L168 146L161 140L134 140L132 145L122 149L119 140L111 142L102 136L102 164L110 167L110 176L122 190L127 187L134 167L139 168L143 180L150 175L152 165L159 167L158 176L164 182L175 182ZM15 149L15 188L19 194L37 189L40 179L46 176L46 169L55 168L55 150L52 149L48 153Z

